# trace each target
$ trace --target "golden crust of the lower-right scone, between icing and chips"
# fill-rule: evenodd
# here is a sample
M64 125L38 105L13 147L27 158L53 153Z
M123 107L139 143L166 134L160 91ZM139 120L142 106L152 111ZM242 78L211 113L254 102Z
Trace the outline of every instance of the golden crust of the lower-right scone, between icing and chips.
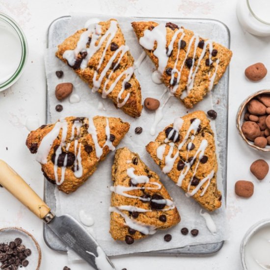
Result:
M181 118L184 120L184 123L179 131L180 141L175 143L171 156L173 157L176 153L179 153L179 155L173 164L172 170L168 173L168 176L171 178L172 181L174 181L175 183L178 183L179 176L183 170L183 169L178 170L178 167L177 167L178 162L180 160L183 162L187 162L187 155L188 157L195 156L202 140L206 139L208 141L208 145L205 149L204 155L208 158L208 160L205 163L202 163L202 162L198 163L198 167L194 176L201 181L207 175L211 174L213 170L214 177L211 179L209 187L206 189L206 192L204 193L203 196L201 196L201 194L202 194L203 189L206 187L208 183L207 181L202 185L202 188L199 189L199 191L192 196L192 198L195 199L206 210L214 211L221 206L221 193L217 189L217 185L216 185L217 160L216 160L216 146L215 146L215 140L214 140L214 133L210 127L210 122L203 111L195 111ZM188 153L187 145L190 142L191 135L193 135L193 132L191 132L189 134L189 139L187 140L187 142L183 145L181 150L178 150L179 144L183 141L185 135L187 134L187 131L190 126L190 120L194 118L198 118L201 120L200 122L201 130L195 135L194 140L193 140L193 144L195 147L192 150L189 150L189 153ZM171 140L168 143L166 143L165 152L164 152L162 160L160 160L157 157L157 149L159 146L164 144L164 140L166 139L165 130L170 127L172 128L173 125L171 124L168 127L166 127L162 132L159 133L155 141L151 141L146 146L147 152L151 155L153 160L161 168L165 166L165 156L169 152L170 145L168 145L168 143L171 142ZM193 178L193 173L195 171L197 162L198 162L198 156L182 182L181 188L185 192L188 191L189 182ZM191 192L195 188L196 186L190 186L189 191Z

